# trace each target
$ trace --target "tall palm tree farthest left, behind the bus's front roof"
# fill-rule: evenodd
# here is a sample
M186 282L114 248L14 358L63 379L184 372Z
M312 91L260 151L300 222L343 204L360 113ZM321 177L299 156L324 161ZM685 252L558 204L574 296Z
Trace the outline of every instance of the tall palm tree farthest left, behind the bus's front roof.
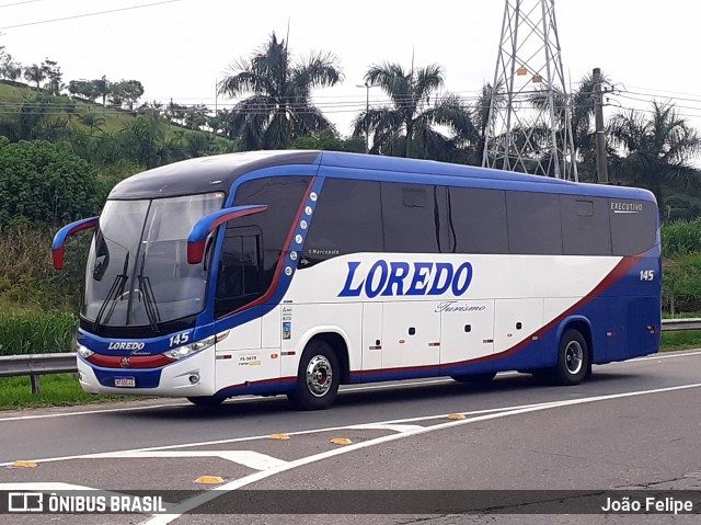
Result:
M240 138L243 149L287 148L299 136L333 128L310 96L313 88L343 79L334 55L312 53L306 60L294 60L287 43L273 33L249 60L234 61L231 70L219 83L219 93L251 93L230 113L230 138Z

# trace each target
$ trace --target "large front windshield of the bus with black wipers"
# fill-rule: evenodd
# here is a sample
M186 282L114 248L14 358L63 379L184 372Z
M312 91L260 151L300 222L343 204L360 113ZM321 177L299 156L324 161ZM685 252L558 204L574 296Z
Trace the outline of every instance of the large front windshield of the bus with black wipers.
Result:
M207 273L187 263L187 235L221 208L212 193L107 201L85 275L82 316L94 324L151 326L193 316L205 306Z

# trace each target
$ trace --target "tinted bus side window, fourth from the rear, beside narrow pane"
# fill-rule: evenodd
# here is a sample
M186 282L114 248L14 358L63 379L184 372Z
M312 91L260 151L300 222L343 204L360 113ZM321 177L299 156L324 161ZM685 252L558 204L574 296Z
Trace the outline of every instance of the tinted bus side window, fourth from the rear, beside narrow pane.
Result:
M448 213L453 253L508 253L503 191L450 187Z

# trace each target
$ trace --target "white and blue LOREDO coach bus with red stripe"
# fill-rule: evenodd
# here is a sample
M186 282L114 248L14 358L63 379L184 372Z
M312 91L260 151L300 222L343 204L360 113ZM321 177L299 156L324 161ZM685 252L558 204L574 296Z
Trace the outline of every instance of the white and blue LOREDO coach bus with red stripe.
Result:
M366 155L256 151L117 184L77 335L88 392L286 393L502 370L578 384L657 352L658 213L644 190Z

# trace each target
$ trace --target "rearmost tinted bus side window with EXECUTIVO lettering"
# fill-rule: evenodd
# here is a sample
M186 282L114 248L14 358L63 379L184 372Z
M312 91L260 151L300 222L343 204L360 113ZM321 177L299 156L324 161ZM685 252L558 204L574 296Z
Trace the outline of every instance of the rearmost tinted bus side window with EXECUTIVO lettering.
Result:
M613 255L637 255L655 244L657 206L647 201L609 198Z

